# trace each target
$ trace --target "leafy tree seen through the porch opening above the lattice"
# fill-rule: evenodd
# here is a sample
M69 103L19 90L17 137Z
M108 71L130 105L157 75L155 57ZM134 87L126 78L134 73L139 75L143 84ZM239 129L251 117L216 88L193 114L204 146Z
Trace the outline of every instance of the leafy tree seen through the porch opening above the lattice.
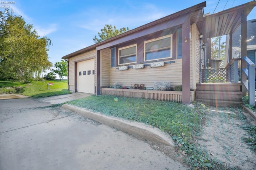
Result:
M214 37L211 39L211 59L214 60L222 60L222 63L220 64L220 66L223 66L223 61L225 59L225 46L226 43L222 42L220 43L220 59L218 59L219 56L219 39L221 39L221 37Z

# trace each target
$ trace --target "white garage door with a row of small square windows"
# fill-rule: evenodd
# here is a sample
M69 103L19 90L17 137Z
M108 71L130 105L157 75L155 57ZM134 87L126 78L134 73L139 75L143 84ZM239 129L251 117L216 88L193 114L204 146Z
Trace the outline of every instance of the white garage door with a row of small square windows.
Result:
M94 94L94 63L94 59L77 63L77 92Z

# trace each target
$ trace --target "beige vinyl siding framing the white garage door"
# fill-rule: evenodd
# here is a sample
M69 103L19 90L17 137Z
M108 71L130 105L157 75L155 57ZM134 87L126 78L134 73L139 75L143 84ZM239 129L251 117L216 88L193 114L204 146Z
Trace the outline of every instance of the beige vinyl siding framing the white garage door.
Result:
M95 57L96 57L96 49L68 59L68 64L69 64L68 65L68 67L69 67L68 68L69 69L68 90L70 90L72 92L75 91L75 63L77 63L79 61L85 61L87 59L92 59L92 58L95 59ZM95 74L96 74L96 69L95 69Z

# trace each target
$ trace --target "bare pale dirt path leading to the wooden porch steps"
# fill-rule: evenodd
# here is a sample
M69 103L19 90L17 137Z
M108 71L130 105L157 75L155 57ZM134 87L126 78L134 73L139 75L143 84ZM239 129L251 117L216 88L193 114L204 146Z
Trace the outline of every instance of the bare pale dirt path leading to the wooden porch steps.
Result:
M217 158L230 168L255 169L256 154L243 141L248 133L242 129L248 121L241 119L241 111L210 107L198 143L212 158Z

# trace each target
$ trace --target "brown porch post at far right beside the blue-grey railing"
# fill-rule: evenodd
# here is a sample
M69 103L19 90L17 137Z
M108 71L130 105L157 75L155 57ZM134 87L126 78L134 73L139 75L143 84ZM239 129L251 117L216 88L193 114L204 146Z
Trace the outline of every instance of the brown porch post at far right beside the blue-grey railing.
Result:
M247 56L247 43L246 43L246 37L247 37L247 15L246 12L242 13L242 25L241 25L241 57ZM246 74L242 71L243 68L246 68L246 61L241 61L241 81L246 81L247 77ZM242 86L242 96L246 96L246 87Z

